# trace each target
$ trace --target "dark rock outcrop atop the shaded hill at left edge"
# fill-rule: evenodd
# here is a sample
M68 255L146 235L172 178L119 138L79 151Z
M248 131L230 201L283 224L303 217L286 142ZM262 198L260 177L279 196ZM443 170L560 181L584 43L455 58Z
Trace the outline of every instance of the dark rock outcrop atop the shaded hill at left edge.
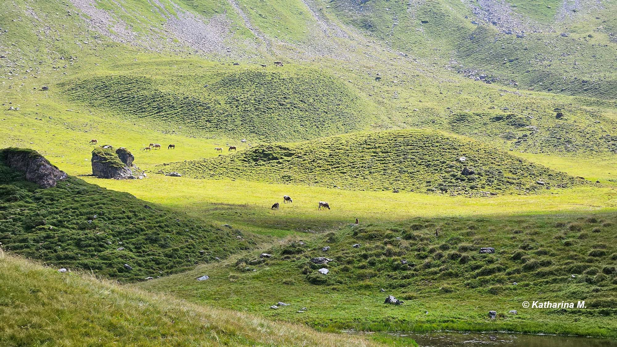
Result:
M67 179L68 175L40 155L36 150L7 148L0 151L0 158L9 168L21 171L26 179L41 188L56 187L58 181Z

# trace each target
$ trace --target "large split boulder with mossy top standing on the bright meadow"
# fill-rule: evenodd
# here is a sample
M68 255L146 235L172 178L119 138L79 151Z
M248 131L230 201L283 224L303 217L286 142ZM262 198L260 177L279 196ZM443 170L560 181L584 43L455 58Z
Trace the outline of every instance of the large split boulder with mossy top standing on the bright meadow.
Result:
M92 175L110 179L143 178L143 172L133 165L133 160L133 154L123 147L115 151L110 145L97 147L92 151Z

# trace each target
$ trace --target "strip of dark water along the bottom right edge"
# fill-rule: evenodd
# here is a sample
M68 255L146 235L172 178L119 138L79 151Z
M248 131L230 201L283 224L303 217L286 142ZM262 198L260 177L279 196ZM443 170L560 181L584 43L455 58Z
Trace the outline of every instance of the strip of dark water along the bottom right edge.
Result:
M616 347L617 339L521 333L390 333L415 340L420 347L507 346L507 347Z

